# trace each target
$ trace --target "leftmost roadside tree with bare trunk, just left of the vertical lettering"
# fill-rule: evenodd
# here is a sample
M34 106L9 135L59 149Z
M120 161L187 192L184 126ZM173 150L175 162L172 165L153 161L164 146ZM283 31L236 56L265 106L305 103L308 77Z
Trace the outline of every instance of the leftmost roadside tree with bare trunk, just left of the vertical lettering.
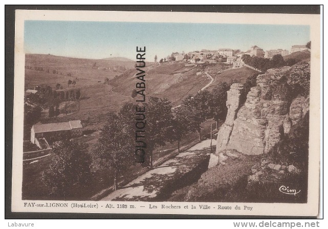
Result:
M118 115L110 113L107 119L98 143L93 149L93 156L97 166L114 170L114 190L117 190L119 174L132 164L135 136L132 126Z

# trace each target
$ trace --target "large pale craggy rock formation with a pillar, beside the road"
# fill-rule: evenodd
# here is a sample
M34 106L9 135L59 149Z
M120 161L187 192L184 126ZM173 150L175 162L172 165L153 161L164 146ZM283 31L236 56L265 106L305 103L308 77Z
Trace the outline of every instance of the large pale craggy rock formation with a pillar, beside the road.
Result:
M218 132L216 154L226 149L244 154L263 154L276 149L283 136L309 111L309 96L292 100L294 88L288 84L300 72L308 77L310 65L269 69L258 75L256 87L251 88L242 107L239 103L243 86L231 85L226 103L228 114Z

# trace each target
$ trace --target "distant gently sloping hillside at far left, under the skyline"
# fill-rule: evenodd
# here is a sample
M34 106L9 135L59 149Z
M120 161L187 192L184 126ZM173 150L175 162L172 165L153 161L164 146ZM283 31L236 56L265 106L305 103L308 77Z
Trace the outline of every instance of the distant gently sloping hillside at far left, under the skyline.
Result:
M112 79L124 69L134 68L135 62L26 54L25 65L33 68L25 70L25 88L32 89L37 85L49 85L54 88L57 83L67 87L69 79L76 81L76 87L96 84L98 81L103 82L105 77ZM43 71L36 71L34 67L42 67ZM58 74L53 74L54 70ZM68 76L69 73L71 76Z

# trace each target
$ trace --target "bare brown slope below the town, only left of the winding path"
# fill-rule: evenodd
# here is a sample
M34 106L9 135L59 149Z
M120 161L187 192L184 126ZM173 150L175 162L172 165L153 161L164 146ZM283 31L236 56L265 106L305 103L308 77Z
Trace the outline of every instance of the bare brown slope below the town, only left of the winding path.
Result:
M185 67L185 63L165 63L144 70L147 96L168 98L173 106L188 94L195 94L209 82L205 75L196 75L196 72L200 71L199 67ZM113 91L131 96L138 82L134 75L136 72L134 70L111 80Z

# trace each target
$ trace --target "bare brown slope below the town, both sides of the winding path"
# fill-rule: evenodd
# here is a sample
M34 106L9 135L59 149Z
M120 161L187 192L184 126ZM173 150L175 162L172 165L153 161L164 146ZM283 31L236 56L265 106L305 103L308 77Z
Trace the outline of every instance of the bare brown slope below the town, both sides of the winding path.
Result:
M201 66L185 66L184 62L165 63L156 67L153 65L147 67L145 71L147 96L167 98L173 106L180 105L185 97L194 95L210 82L206 74L197 75L202 71ZM130 96L138 82L134 76L135 73L135 70L130 70L112 79L110 84L113 86L113 91ZM235 80L243 83L247 77L258 72L246 67L231 69L229 65L214 64L208 66L208 73L214 78L212 85L208 88L211 90L219 82Z

